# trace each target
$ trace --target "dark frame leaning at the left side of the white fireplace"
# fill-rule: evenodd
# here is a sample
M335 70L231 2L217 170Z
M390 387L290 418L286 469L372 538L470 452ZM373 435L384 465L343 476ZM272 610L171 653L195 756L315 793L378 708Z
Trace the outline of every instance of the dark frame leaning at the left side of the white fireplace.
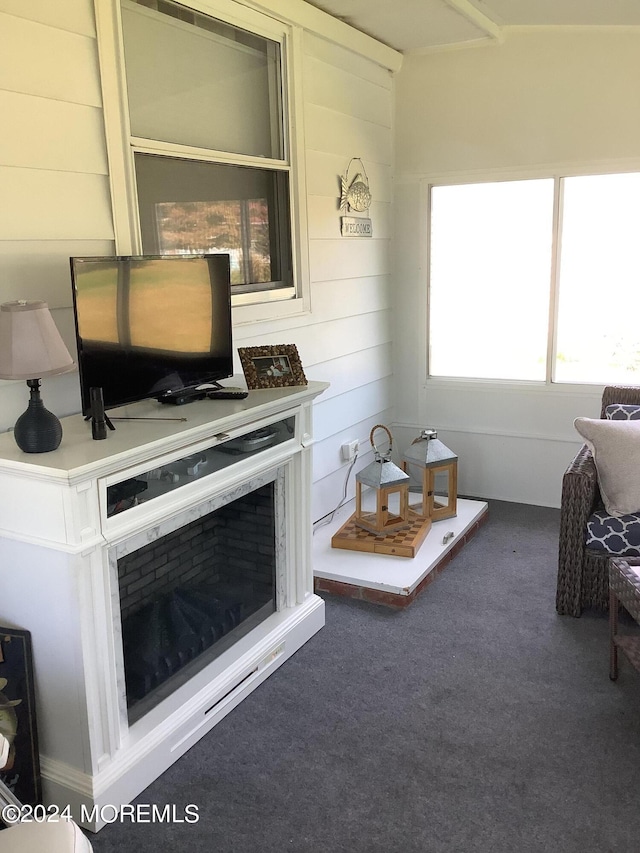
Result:
M0 731L10 743L0 779L23 805L42 802L31 634L0 627Z

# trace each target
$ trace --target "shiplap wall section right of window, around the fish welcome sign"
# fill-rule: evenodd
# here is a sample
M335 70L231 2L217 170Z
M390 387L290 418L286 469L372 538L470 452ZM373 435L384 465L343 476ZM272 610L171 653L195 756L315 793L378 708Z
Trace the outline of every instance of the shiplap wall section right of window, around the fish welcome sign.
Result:
M366 464L371 427L392 416L392 77L308 32L303 73L312 311L276 332L241 327L235 339L295 343L307 377L331 383L315 406L313 515L319 518L342 497L349 465L340 445L363 441L357 467ZM363 160L369 178L372 239L340 236L339 176L352 157Z

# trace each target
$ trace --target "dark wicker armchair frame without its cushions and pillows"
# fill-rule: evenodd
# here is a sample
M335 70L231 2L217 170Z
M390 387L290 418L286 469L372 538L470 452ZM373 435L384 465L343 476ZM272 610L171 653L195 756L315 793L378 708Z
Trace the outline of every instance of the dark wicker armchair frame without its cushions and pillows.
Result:
M640 405L640 388L610 385L602 394L600 417L613 403ZM562 480L556 610L580 616L583 607L609 607L609 555L585 546L587 520L602 503L591 451L583 446Z

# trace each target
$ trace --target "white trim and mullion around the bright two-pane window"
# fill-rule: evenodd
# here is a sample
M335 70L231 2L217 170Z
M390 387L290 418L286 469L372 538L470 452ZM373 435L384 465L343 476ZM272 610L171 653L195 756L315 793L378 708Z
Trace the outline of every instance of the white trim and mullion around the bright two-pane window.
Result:
M552 367L557 347L557 320L558 320L558 254L559 245L557 241L557 223L561 214L562 192L554 193L553 211L553 246L552 246L552 271L550 277L551 294L549 300L549 326L548 337L550 346L547 347L547 366L544 380L534 379L484 379L470 376L431 376L429 374L429 323L430 323L430 281L429 268L431 247L430 243L430 221L431 221L431 188L437 186L453 186L456 184L493 183L497 181L524 181L537 178L552 178L558 182L561 178L581 177L585 175L616 175L626 172L640 172L640 159L630 158L615 162L589 162L589 163L554 163L530 168L511 168L488 171L469 171L434 174L423 176L419 180L420 187L420 233L424 239L420 240L419 264L423 271L421 276L421 305L420 310L424 317L424 323L420 329L420 373L423 377L423 387L444 387L455 385L460 388L496 388L499 390L520 390L538 393L540 391L551 391L555 394L599 394L602 391L602 383L593 382L556 382L552 379ZM562 186L562 185L560 185Z

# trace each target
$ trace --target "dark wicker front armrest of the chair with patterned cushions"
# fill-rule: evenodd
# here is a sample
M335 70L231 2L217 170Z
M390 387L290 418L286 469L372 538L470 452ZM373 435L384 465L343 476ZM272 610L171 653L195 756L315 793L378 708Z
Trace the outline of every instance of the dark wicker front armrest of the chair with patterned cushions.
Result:
M584 445L562 478L558 540L558 613L579 616L582 610L582 572L587 521L600 500L598 474L591 451Z

